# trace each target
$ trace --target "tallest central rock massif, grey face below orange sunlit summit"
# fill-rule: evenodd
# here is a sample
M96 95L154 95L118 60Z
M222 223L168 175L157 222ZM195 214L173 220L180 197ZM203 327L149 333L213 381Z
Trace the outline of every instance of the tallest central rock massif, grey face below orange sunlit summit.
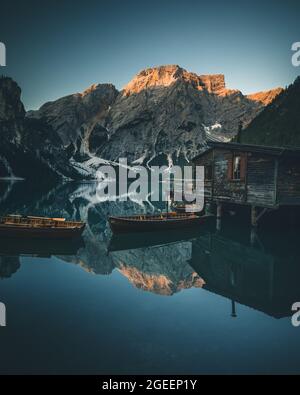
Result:
M160 155L191 158L207 138L230 139L263 104L226 89L223 75L198 76L179 66L139 73L111 107L104 158L129 161Z

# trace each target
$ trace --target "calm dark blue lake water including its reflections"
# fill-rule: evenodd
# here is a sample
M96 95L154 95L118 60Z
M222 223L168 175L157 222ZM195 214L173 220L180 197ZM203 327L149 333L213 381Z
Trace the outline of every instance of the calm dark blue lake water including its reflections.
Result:
M82 219L75 243L0 241L1 373L299 373L298 234L222 230L111 237L95 184L0 184L2 213ZM157 210L157 208L156 208Z

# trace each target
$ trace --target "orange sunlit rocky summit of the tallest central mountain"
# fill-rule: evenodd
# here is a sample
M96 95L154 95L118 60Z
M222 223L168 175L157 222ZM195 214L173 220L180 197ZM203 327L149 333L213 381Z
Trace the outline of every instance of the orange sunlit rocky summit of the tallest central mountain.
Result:
M168 87L178 80L210 93L218 94L226 90L223 74L197 75L178 65L165 65L142 70L125 86L123 92L126 96L130 96L144 89Z

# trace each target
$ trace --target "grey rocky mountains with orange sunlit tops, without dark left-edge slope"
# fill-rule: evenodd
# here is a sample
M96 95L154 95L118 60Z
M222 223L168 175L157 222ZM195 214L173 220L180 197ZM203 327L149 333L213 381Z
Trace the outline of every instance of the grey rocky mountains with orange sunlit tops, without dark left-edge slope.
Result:
M245 96L227 89L221 74L169 65L141 71L121 92L109 84L92 86L27 116L45 120L83 167L95 157L145 163L190 158L207 138L229 140L279 92Z

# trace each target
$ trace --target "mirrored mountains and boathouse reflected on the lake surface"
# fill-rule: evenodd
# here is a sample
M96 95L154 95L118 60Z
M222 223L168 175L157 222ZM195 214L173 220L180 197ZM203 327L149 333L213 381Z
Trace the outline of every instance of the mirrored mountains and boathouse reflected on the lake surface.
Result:
M96 188L96 183L65 184L30 200L24 183L2 183L2 214L64 216L86 221L87 228L81 240L72 242L1 240L0 278L17 273L20 256L56 256L97 275L118 270L144 291L173 295L199 287L228 298L233 309L238 302L276 318L291 315L291 305L300 300L295 238L285 234L275 240L268 233L251 245L249 230L230 224L221 232L203 226L196 231L112 236L108 215L156 212L163 206L98 203Z

